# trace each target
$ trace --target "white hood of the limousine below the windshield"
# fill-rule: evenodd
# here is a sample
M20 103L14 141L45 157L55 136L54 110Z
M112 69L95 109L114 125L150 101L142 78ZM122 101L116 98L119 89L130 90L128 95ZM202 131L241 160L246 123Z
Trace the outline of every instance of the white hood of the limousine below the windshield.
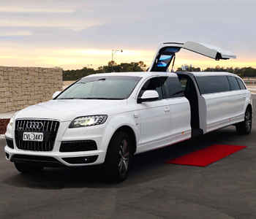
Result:
M71 121L86 115L108 115L114 109L125 107L127 100L50 100L20 110L15 115L19 118L41 118Z

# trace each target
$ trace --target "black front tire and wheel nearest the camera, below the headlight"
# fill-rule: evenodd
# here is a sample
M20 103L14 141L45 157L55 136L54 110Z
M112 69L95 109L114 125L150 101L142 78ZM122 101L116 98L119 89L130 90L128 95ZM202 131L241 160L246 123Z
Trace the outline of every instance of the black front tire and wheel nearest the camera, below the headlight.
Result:
M131 149L131 141L126 133L118 131L113 135L103 164L105 180L115 183L126 180L131 166Z

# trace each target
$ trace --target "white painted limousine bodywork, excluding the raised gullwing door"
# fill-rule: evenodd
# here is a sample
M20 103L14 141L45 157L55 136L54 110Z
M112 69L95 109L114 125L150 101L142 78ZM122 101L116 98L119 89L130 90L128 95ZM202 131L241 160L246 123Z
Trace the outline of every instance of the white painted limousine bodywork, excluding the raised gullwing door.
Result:
M115 73L108 75L135 75L143 77L131 96L125 100L51 100L21 110L15 115L18 119L51 119L59 120L60 126L56 136L53 151L35 152L18 150L16 147L5 151L10 154L26 155L50 155L67 166L83 166L92 164L67 164L61 158L76 157L79 155L99 155L94 164L102 164L105 161L105 153L108 144L115 131L121 126L129 126L135 133L137 139L136 153L154 150L166 145L172 145L191 137L189 101L185 97L174 99L162 99L159 101L137 104L138 91L143 83L151 77L177 77L173 73L142 72L142 73ZM195 76L208 75L208 73L192 73ZM212 73L214 74L214 73ZM226 72L218 74L227 74ZM96 75L97 77L100 76ZM199 92L199 91L198 91ZM246 96L246 99L238 100L238 96ZM200 94L198 94L200 96ZM249 91L230 91L225 93L214 93L200 96L200 111L203 115L200 124L204 133L238 123L244 119L244 111L250 100ZM108 115L106 123L99 126L85 128L68 128L75 118L86 115ZM5 136L15 139L15 127L8 125ZM60 153L61 141L75 141L94 139L98 150ZM14 142L15 144L15 142Z

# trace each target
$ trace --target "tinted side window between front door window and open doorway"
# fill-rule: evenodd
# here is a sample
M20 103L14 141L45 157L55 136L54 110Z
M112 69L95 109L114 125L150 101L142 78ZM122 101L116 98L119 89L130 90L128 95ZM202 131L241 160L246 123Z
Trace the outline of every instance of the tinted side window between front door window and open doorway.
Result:
M178 77L161 77L161 80L166 99L184 96Z

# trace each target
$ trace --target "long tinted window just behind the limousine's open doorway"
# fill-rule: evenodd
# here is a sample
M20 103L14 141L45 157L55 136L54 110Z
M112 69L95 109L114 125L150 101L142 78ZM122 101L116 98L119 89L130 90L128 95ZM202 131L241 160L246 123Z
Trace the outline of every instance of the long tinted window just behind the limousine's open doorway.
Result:
M231 91L227 76L195 77L201 94Z

